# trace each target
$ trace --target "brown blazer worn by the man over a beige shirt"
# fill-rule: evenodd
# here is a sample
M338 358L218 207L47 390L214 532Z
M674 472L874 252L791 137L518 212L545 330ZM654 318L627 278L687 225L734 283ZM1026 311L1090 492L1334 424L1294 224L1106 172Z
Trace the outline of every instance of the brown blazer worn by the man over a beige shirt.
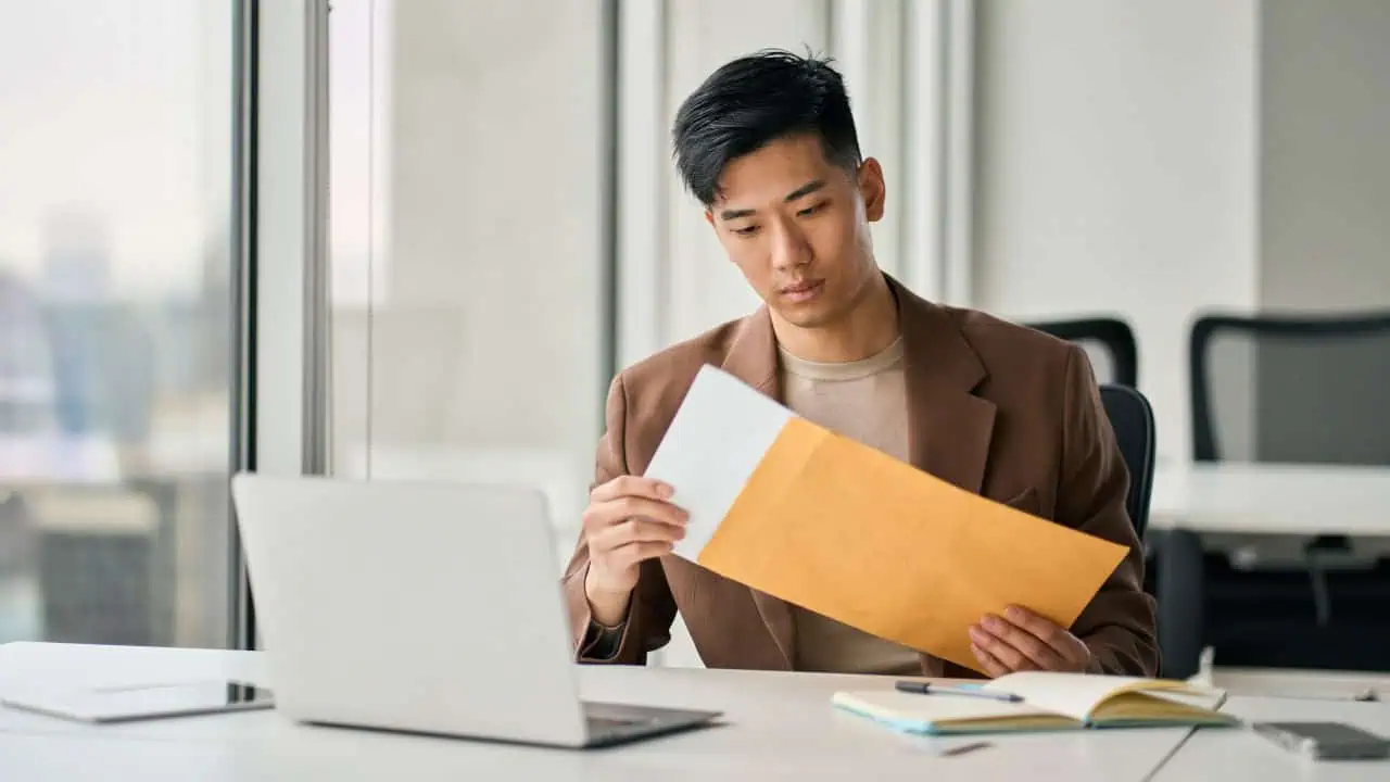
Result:
M890 285L903 338L912 463L962 488L1127 545L1130 555L1070 629L1091 648L1098 671L1156 675L1154 601L1141 587L1143 552L1125 511L1129 473L1086 353L979 312L929 303L892 278ZM595 486L646 470L705 363L780 399L777 344L766 308L667 348L613 380ZM563 586L578 660L596 662L584 647L587 570L581 540ZM710 668L795 665L795 625L785 603L671 555L642 565L612 662L645 664L646 653L670 640L677 611ZM979 675L926 654L922 664L930 676Z

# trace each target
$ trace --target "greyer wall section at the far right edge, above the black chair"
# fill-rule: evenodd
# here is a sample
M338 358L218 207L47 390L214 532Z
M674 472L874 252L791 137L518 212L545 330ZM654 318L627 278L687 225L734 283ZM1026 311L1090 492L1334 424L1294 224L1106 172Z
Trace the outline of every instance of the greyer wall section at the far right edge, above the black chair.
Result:
M1390 3L1265 0L1261 302L1390 306Z

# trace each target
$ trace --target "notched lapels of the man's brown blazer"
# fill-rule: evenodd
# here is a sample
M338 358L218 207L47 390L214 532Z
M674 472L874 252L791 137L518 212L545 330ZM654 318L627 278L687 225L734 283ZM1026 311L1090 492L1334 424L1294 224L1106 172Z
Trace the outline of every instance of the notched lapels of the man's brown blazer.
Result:
M988 372L949 310L927 302L884 276L898 302L908 404L908 441L913 466L972 493L984 484L994 402L974 395ZM744 319L721 369L759 392L783 401L777 337L766 305ZM749 590L773 641L791 668L795 622L791 608Z

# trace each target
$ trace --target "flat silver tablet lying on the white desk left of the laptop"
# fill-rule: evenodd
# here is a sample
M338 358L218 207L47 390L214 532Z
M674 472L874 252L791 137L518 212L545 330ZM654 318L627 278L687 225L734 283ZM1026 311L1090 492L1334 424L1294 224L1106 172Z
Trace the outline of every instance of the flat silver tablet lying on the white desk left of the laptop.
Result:
M0 694L0 704L78 722L133 722L274 705L271 692L227 679L124 685L118 687L29 689Z

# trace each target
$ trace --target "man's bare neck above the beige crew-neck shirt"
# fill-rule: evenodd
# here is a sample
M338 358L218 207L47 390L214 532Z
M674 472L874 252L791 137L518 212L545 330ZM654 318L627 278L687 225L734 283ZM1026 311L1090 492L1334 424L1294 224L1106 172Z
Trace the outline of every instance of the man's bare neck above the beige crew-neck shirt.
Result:
M844 316L823 326L795 326L771 313L777 342L809 362L856 362L877 355L898 338L898 303L883 274L865 284Z

